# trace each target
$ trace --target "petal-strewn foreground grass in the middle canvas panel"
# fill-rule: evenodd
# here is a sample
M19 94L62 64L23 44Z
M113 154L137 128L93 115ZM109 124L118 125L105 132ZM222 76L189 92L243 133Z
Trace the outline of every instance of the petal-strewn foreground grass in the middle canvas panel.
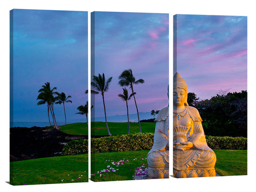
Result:
M140 166L148 167L147 154L149 150L144 151L122 151L109 153L91 154L91 180L93 181L121 181L133 180L135 169ZM128 160L128 161L127 161ZM112 162L124 161L123 165L112 165ZM110 170L113 167L116 171L102 172Z

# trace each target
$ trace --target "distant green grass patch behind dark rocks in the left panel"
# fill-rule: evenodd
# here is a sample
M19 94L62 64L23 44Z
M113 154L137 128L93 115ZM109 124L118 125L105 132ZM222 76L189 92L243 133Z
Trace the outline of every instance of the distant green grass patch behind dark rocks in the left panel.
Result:
M61 131L73 135L88 135L87 123L71 123L61 125Z

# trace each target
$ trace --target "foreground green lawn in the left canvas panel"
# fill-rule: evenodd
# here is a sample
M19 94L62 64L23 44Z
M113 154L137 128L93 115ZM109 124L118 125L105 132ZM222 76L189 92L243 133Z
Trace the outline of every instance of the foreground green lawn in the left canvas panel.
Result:
M88 182L88 154L10 162L11 185Z

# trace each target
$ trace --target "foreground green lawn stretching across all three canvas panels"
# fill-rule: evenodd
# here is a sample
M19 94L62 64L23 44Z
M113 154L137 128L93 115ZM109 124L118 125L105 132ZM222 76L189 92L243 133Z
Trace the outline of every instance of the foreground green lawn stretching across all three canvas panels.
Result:
M217 155L215 169L219 175L247 174L247 150L218 149L214 152ZM145 167L148 166L147 154L148 150L91 154L91 179L93 181L132 180L135 169L143 164ZM87 158L88 155L83 154L11 162L10 183L12 185L36 185L87 182ZM120 161L124 161L122 165L111 164ZM111 171L110 167L113 167L112 170L115 171L101 172L103 170Z

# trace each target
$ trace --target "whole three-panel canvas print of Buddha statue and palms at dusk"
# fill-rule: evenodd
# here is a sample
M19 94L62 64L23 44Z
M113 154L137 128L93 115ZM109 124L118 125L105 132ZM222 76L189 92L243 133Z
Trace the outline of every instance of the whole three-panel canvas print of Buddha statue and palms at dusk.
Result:
M10 184L246 175L247 17L174 15L172 84L169 14L90 14L10 12Z

